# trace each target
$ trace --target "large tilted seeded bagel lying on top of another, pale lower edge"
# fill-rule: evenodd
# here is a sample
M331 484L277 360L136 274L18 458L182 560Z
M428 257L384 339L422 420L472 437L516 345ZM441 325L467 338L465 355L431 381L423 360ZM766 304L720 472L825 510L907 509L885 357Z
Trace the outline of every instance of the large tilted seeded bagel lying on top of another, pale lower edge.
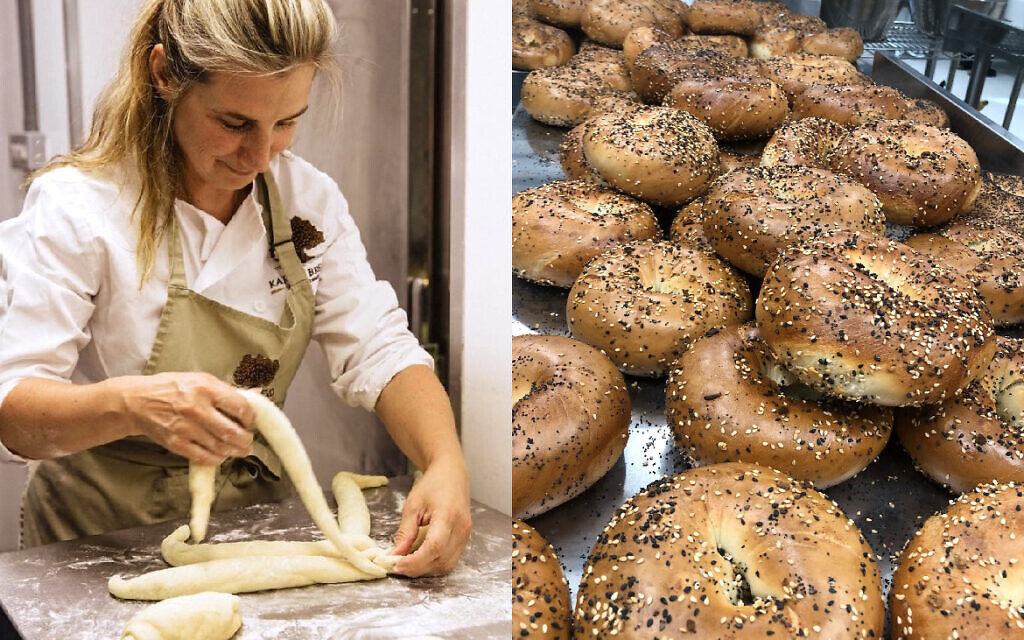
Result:
M967 278L871 233L786 249L768 267L756 312L798 380L884 407L952 397L995 351L992 316Z

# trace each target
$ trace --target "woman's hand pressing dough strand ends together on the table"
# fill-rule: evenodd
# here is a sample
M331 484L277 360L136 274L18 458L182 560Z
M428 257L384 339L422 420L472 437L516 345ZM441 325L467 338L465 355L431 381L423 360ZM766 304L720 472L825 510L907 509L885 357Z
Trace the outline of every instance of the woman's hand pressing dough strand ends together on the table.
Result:
M423 544L407 555L424 524L430 526ZM470 525L465 463L461 456L454 461L435 461L406 498L392 551L404 557L395 564L394 571L410 578L451 572L469 540Z

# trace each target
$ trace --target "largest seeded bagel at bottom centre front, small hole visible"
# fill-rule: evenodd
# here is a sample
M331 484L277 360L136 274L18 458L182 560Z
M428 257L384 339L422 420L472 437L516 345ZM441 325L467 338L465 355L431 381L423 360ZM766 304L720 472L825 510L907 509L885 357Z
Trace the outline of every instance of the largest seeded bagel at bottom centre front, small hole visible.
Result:
M583 569L575 638L881 638L871 548L814 488L756 465L656 480Z

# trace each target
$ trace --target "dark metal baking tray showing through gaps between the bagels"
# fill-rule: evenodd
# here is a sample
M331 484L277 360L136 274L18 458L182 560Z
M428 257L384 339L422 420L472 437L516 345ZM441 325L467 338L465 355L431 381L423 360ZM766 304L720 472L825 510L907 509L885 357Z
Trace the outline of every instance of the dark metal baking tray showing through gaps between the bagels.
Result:
M1024 144L956 98L939 99L938 87L921 86L921 74L887 53L876 53L874 78L907 95L929 97L949 113L954 131L975 147L982 167L1024 174ZM972 113L973 112L973 113ZM558 145L566 129L532 120L519 104L512 118L512 193L563 179ZM668 228L672 212L656 212ZM893 227L895 237L908 234ZM756 291L756 289L755 289ZM512 280L512 335L568 336L565 322L567 290ZM1002 332L1000 332L1002 333ZM1020 331L1008 335L1021 337ZM572 602L583 565L596 538L615 510L650 482L688 468L676 451L665 417L665 379L627 376L633 406L630 437L623 457L594 486L573 500L529 520L555 550L565 567ZM857 476L823 492L852 518L871 545L888 597L895 562L906 541L933 513L954 496L913 468L895 436L882 454ZM888 617L887 617L888 625ZM887 636L888 637L888 636Z

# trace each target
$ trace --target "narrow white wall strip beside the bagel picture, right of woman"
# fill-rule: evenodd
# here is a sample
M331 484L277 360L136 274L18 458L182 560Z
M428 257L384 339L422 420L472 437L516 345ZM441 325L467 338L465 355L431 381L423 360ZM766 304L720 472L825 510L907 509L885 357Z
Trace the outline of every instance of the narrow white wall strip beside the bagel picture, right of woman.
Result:
M511 513L512 7L450 5L453 395L473 498Z

